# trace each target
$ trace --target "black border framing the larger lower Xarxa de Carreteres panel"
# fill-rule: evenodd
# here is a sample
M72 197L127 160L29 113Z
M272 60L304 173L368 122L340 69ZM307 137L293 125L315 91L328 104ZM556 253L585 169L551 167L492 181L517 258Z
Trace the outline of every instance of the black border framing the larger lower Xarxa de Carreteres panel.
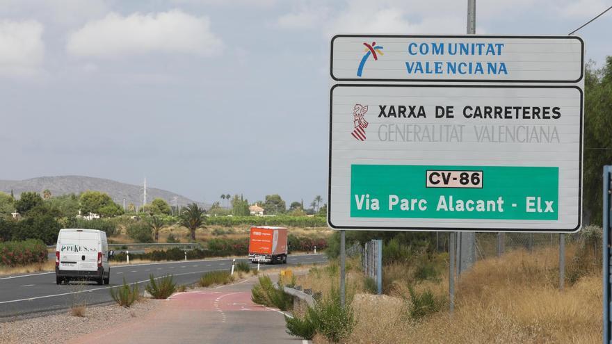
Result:
M332 108L333 108L333 95L334 90L338 87L389 87L389 88L574 88L580 92L580 147L579 147L579 186L578 186L578 222L576 227L573 229L560 229L560 228L457 228L457 227L364 227L364 226L336 226L332 223ZM328 226L332 229L349 229L349 230L360 230L360 231L465 231L465 232L523 232L523 233L576 233L580 230L582 224L582 163L583 163L583 107L584 107L584 92L577 85L398 85L398 84L349 84L341 83L333 85L330 88L330 141L329 141L329 157L328 157L328 214L327 222ZM461 219L458 219L461 220Z

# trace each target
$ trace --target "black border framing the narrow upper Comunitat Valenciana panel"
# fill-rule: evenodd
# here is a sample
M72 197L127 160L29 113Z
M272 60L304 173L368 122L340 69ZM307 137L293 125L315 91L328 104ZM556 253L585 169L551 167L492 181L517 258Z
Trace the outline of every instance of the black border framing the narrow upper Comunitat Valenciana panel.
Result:
M509 39L554 39L554 40L579 40L580 54L580 77L576 80L456 80L456 79L367 79L367 78L337 78L334 76L334 41L341 37L364 37L364 38L509 38ZM394 83L433 82L433 83L578 83L584 77L584 41L579 36L547 36L547 35L335 35L330 42L330 76L335 81L385 81Z

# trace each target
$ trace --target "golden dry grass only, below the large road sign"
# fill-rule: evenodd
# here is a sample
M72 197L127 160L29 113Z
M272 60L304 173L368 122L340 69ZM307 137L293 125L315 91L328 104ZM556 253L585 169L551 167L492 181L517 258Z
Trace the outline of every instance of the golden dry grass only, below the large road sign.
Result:
M575 249L567 247L570 270ZM585 275L558 290L558 250L529 254L509 252L500 259L478 261L462 275L456 291L456 311L420 321L410 320L408 271L401 265L385 270L396 281L391 296L362 294L357 271L347 274L357 325L346 343L600 343L602 338L602 275ZM325 292L337 275L311 269L298 284ZM417 292L430 290L448 298L448 270L440 281L412 282ZM314 343L325 343L317 336Z

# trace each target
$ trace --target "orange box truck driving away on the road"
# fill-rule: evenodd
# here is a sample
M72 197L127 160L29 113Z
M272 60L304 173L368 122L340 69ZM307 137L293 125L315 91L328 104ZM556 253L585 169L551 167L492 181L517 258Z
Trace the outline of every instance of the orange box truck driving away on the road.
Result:
M251 227L249 240L251 263L287 263L287 228Z

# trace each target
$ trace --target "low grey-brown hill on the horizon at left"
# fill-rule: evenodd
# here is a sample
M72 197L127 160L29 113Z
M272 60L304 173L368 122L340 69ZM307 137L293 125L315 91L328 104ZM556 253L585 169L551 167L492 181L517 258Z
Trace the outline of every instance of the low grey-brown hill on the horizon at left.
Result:
M69 193L79 194L87 190L97 190L107 193L117 204L122 205L123 199L125 204L134 203L141 205L143 203L143 186L120 183L110 179L84 177L84 176L58 176L58 177L38 177L32 179L24 179L22 181L0 180L0 191L10 193L13 190L15 197L19 197L24 191L35 191L42 193L42 190L49 189L51 195L65 195ZM172 193L168 190L147 187L147 202L151 202L155 198L165 199L169 204L174 205L174 197L177 197L179 205L193 203L194 201Z

